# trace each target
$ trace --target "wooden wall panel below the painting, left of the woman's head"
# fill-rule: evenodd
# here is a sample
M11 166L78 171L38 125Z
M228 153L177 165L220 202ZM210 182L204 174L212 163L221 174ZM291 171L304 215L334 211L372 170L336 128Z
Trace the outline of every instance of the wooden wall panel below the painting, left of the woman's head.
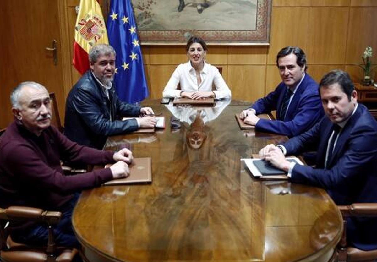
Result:
M185 46L153 46L149 52L150 64L178 64L187 62Z

